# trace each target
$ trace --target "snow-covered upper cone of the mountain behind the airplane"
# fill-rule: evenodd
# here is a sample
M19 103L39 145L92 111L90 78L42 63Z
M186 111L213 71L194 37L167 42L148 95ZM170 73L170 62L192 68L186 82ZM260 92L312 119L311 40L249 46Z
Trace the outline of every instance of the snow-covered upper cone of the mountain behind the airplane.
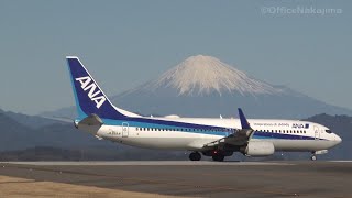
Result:
M202 95L217 91L240 94L275 94L273 86L252 79L243 72L231 67L211 56L190 56L179 65L164 73L157 80L147 86L176 88L179 95Z

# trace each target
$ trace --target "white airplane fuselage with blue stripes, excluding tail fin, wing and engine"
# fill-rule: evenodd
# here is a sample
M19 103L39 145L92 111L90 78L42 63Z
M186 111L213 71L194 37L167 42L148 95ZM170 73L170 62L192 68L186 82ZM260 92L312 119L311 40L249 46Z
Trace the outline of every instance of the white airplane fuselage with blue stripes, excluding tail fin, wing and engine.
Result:
M79 128L99 138L133 146L202 151L209 142L228 136L235 129L241 129L239 119L205 119L205 118L142 118L150 123L136 121L107 121L100 128L80 125ZM154 124L153 121L170 121L178 124L198 124L197 129ZM152 124L151 124L152 123ZM298 120L264 120L249 119L255 131L251 141L270 141L275 151L320 151L330 148L341 142L321 124ZM199 125L208 127L201 129ZM224 130L209 129L209 127Z

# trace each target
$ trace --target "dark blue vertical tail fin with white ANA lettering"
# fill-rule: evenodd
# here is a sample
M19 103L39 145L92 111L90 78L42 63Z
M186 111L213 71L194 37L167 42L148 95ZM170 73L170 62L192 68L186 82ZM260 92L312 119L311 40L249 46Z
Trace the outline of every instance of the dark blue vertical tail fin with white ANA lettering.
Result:
M76 56L66 56L78 119L84 119L92 113L102 119L122 119L125 116L110 102L102 89Z

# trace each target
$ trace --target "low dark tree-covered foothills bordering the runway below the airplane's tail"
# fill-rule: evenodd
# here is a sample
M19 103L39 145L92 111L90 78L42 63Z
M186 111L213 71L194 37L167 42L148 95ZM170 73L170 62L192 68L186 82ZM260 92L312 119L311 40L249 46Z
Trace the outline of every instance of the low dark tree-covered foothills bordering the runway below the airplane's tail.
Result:
M62 148L35 146L18 151L0 151L0 161L150 161L188 160L185 152L143 150L130 146L94 146Z

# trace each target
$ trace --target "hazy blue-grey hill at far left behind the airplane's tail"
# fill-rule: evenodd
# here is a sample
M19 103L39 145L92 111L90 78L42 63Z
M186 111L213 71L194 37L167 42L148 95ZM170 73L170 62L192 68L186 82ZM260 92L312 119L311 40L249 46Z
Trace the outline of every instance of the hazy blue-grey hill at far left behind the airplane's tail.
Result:
M107 145L66 123L12 112L0 113L0 151L34 146L80 147Z

